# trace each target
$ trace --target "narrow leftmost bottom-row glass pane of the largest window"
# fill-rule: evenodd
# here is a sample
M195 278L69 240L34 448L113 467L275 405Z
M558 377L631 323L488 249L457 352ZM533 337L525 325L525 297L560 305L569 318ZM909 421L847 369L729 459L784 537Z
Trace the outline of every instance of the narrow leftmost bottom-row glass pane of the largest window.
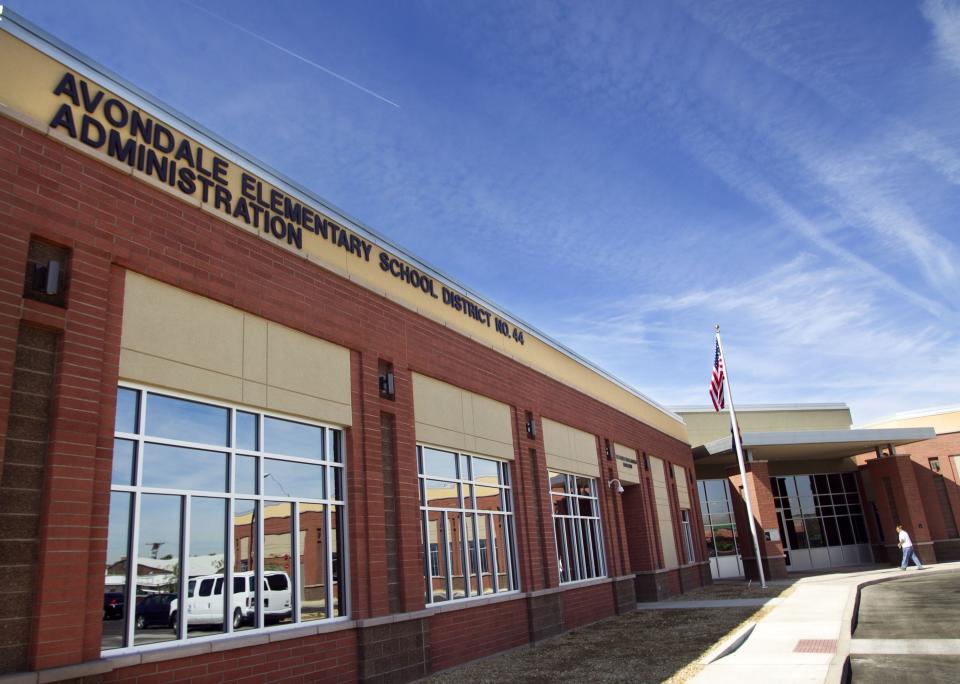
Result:
M127 544L132 496L126 492L110 493L107 566L103 584L103 632L100 638L100 647L104 650L123 646L127 604Z

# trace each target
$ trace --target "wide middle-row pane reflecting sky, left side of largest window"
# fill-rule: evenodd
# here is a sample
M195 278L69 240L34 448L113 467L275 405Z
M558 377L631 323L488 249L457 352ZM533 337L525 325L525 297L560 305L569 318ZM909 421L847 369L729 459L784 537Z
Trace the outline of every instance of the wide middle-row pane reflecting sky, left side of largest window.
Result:
M143 486L227 491L227 455L165 444L144 444Z

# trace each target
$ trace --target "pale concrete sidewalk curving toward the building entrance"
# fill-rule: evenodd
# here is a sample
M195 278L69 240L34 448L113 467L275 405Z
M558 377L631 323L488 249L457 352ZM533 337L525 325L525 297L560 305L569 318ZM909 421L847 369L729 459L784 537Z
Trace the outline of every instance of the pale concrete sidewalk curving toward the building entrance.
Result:
M691 681L840 682L850 653L850 628L860 586L911 577L918 572L957 569L960 563L940 563L923 571L880 568L803 577L788 596L753 625L736 650L718 657ZM742 640L744 635L739 636ZM734 646L731 643L726 650ZM721 645L716 652L724 650Z

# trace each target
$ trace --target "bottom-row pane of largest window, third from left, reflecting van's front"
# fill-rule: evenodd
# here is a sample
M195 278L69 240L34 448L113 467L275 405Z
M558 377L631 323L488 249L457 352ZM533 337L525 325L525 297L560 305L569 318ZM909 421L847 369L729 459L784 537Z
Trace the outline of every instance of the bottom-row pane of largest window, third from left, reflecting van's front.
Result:
M225 529L227 502L225 499L193 497L190 509L190 554L187 557L189 577L203 578L200 582L200 595L206 600L188 598L190 602L187 614L190 616L188 636L205 636L224 631L223 562L225 549ZM221 582L220 590L213 587L214 580ZM209 585L209 586L208 586ZM236 607L237 622L242 617L242 609ZM233 609L231 609L231 613Z

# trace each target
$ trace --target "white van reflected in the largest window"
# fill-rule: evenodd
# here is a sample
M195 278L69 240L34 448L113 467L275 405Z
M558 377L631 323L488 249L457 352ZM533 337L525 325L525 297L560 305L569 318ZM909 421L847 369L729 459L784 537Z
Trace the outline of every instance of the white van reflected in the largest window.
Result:
M202 575L187 582L187 626L223 624L223 575ZM277 622L291 615L290 577L285 572L263 573L263 621ZM233 628L256 619L256 580L252 571L233 574ZM170 624L177 629L179 601L170 602Z

